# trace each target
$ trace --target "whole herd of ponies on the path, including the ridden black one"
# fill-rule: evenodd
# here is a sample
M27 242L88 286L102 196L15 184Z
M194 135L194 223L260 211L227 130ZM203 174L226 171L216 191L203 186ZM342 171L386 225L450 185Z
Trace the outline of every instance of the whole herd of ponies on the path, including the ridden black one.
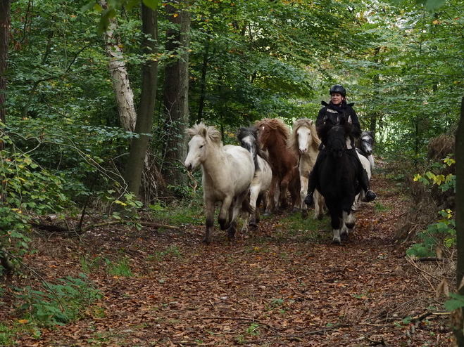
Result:
M318 129L312 119L297 119L292 129L281 119L265 118L254 126L237 130L240 145L223 145L220 132L214 126L196 124L186 130L191 136L184 166L194 171L201 166L203 199L206 209L206 233L203 242L210 244L214 225L215 205L220 202L218 223L229 239L237 230L237 216L243 218L242 232L256 228L260 221L260 206L264 216L277 209L301 211L308 218L303 202L308 192L309 173L313 169L320 143L329 155L317 173L320 184L314 192L315 218L322 219L328 210L334 232L333 242L346 240L355 227L354 214L363 191L356 180L356 168L346 154L346 138L351 124ZM322 135L321 135L322 134ZM363 131L356 147L360 162L372 174L373 134Z

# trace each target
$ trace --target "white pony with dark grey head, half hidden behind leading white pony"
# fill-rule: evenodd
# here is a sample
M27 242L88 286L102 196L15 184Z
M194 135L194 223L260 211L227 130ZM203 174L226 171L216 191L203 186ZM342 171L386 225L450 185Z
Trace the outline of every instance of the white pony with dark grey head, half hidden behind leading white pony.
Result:
M240 145L251 153L255 163L255 176L250 185L250 205L253 213L242 214L244 220L242 233L246 233L248 232L249 225L256 227L259 223L259 205L261 204L261 200L263 200L263 207L266 209L265 193L268 191L270 182L272 181L272 169L268 162L268 156L261 148L261 143L258 140L258 128L254 126L240 128L237 131L237 138L240 141Z

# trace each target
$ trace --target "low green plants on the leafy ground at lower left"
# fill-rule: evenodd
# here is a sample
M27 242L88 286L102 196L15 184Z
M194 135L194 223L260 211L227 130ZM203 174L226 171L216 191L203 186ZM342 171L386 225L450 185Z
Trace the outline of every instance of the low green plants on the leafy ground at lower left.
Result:
M38 325L50 327L65 325L76 320L93 301L101 298L101 293L89 285L87 277L66 277L61 284L43 282L43 289L27 286L15 288L16 298L23 301L20 310L25 317Z

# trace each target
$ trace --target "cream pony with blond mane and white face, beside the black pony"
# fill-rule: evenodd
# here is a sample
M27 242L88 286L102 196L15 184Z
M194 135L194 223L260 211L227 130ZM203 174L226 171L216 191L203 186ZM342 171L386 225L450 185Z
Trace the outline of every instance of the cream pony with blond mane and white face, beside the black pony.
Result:
M308 218L308 206L304 203L304 198L308 194L309 173L313 169L315 160L319 154L320 139L315 130L312 119L301 118L293 122L293 129L289 138L289 149L299 157L300 171L300 197L301 197L301 218ZM314 214L321 220L324 217L324 198L315 190L314 192Z

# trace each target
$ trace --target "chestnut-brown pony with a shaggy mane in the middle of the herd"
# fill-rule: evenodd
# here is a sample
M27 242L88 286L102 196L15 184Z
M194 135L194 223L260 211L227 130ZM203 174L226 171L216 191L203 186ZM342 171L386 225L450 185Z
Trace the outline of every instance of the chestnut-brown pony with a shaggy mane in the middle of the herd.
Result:
M282 209L288 207L287 191L289 191L291 207L294 211L298 211L295 207L301 202L298 158L287 148L287 140L290 136L289 127L277 118L261 119L261 121L256 121L256 126L259 129L258 139L263 149L268 150L269 162L272 166L272 182L268 193L268 207L264 216L270 216L271 211L275 209L274 196L277 185L280 190L280 207Z

